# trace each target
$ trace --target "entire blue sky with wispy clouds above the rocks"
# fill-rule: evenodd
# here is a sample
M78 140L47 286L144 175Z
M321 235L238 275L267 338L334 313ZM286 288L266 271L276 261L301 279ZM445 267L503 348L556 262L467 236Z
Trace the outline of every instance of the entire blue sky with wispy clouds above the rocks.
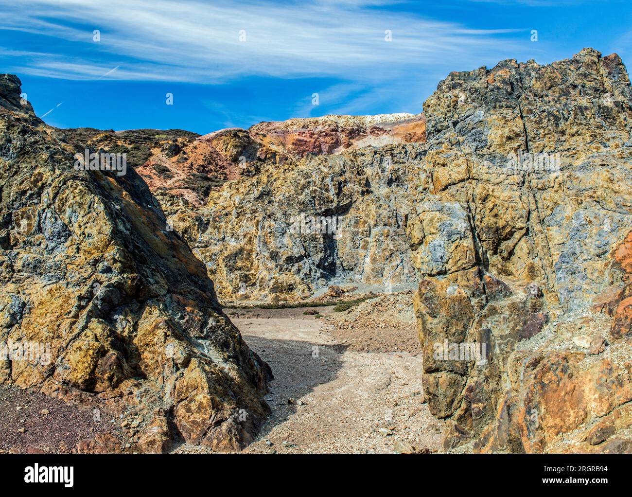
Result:
M629 0L0 0L0 7L2 71L16 73L37 115L61 128L204 134L294 117L418 113L450 71L507 58L550 63L588 46L632 59Z

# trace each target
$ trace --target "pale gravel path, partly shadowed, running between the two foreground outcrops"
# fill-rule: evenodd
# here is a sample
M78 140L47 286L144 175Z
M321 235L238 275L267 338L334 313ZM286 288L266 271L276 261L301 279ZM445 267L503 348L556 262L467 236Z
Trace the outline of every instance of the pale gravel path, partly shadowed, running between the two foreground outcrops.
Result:
M331 307L317 310L332 314ZM441 451L442 422L423 399L421 355L391 350L397 340L386 338L387 328L379 332L389 352L380 352L367 329L334 330L304 311L228 313L275 376L267 396L272 414L245 452L392 453L405 443ZM410 333L416 337L414 327Z

